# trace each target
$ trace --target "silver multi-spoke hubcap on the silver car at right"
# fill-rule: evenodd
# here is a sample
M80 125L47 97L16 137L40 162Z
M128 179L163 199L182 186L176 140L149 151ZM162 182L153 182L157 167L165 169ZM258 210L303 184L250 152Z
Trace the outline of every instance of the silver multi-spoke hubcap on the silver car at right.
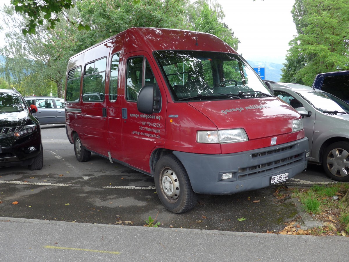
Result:
M342 148L335 148L327 155L327 168L335 176L349 174L349 153Z

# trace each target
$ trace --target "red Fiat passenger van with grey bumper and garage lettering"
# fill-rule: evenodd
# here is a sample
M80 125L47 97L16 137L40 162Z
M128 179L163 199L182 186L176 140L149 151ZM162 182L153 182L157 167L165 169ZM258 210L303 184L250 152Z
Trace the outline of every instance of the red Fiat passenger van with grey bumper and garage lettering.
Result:
M210 34L127 29L69 59L65 100L77 160L93 152L154 176L174 213L307 166L301 116Z

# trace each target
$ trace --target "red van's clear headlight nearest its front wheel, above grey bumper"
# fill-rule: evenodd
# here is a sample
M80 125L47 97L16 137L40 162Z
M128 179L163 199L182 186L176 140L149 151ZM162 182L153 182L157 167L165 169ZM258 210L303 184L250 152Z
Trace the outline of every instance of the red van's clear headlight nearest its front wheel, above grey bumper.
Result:
M198 131L196 141L198 143L224 144L247 141L248 137L244 129L228 129L215 131Z

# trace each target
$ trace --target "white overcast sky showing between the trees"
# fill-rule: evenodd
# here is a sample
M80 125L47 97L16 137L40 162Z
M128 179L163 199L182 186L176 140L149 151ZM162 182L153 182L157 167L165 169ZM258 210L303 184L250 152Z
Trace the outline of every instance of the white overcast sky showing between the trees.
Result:
M0 0L9 5L10 0ZM295 0L218 0L224 22L239 38L238 52L252 61L284 63L288 42L296 35L291 9ZM0 32L0 46L4 44Z

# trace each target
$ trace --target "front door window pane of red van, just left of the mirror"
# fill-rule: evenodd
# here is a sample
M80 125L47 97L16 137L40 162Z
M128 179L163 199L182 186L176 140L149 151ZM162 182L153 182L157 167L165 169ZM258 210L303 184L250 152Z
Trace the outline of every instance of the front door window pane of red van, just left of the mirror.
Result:
M142 87L142 66L143 57L134 57L127 61L126 99L129 101L137 101Z

